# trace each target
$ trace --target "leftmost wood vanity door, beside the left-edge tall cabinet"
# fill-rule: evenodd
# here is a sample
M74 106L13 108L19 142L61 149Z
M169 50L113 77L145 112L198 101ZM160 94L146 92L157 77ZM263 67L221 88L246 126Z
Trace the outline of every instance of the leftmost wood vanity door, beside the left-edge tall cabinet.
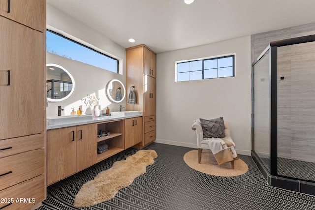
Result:
M77 171L76 127L47 131L47 185Z

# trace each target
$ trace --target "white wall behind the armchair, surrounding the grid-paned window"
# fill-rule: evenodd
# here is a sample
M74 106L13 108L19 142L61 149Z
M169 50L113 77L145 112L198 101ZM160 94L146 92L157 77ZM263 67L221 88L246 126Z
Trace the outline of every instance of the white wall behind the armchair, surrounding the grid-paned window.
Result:
M175 61L235 53L235 77L175 82ZM196 148L195 119L230 122L239 154L251 150L251 37L157 54L158 143Z

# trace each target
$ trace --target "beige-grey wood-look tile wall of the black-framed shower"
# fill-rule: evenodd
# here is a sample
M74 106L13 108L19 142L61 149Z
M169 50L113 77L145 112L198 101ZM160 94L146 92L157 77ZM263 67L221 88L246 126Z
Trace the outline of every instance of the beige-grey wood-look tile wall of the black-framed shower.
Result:
M315 23L252 35L252 62L271 41L313 34ZM315 162L314 45L308 43L278 48L280 157ZM284 80L280 80L281 76Z

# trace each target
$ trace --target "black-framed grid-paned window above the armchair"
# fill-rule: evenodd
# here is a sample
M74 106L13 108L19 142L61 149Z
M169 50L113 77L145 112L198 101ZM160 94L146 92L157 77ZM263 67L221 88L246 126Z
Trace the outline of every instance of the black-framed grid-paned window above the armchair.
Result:
M177 62L177 82L234 77L234 55Z

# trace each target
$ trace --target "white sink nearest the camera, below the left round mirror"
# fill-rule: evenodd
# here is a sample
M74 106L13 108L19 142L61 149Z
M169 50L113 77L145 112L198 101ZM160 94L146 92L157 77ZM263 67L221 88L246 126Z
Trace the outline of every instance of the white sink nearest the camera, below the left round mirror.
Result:
M93 119L92 115L65 115L65 116L47 117L48 125L85 122L92 119Z

